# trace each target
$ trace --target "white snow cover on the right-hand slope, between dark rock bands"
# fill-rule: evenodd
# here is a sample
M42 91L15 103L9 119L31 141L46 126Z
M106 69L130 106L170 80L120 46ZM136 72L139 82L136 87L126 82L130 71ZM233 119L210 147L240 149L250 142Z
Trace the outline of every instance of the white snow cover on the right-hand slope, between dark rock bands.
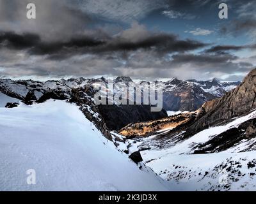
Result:
M159 140L154 140L161 133L148 138L127 140L131 143L129 151L145 149L141 150L143 161L157 175L169 180L175 186L175 191L255 191L255 138L244 139L222 152L193 154L198 144L218 137L220 133L255 117L256 110L253 110L248 115L234 118L223 126L205 129L186 140L164 140L165 143L170 143L163 148L159 147ZM245 150L250 152L243 152Z

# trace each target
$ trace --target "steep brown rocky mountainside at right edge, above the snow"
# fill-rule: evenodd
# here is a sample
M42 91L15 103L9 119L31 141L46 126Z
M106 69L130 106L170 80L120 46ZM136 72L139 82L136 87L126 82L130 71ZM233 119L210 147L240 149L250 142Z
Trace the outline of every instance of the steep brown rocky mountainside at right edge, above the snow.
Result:
M186 134L246 114L253 108L256 108L256 69L250 71L233 91L227 92L222 98L206 102L200 108L196 122Z

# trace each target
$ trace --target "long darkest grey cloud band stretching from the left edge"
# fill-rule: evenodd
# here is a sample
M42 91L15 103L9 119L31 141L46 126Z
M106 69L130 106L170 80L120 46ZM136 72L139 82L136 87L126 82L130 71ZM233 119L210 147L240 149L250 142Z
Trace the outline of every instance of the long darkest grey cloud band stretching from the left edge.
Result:
M155 50L158 53L185 52L205 47L205 43L195 40L179 40L173 34L150 34L132 41L122 36L96 39L92 36L76 36L68 41L45 42L36 34L0 33L0 48L26 49L32 55L54 55L60 59L77 54L101 54L102 52L125 52L140 49ZM57 57L59 55L59 57ZM51 57L51 56L50 56Z

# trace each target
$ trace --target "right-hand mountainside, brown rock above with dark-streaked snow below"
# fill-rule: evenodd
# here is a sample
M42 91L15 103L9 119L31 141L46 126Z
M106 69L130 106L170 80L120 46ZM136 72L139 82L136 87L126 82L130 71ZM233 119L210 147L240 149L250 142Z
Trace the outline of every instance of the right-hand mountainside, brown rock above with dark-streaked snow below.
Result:
M163 131L156 129L148 138L137 135L125 141L129 153L139 150L147 166L174 182L175 189L254 191L255 85L253 69L241 85L222 98L206 102L189 122Z

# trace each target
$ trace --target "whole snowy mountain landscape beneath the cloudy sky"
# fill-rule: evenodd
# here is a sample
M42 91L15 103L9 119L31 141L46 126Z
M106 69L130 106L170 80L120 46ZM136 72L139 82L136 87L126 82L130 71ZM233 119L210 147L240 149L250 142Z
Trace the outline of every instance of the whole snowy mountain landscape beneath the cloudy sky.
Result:
M256 69L243 82L172 78L161 112L95 105L99 82L0 80L0 190L256 190Z

